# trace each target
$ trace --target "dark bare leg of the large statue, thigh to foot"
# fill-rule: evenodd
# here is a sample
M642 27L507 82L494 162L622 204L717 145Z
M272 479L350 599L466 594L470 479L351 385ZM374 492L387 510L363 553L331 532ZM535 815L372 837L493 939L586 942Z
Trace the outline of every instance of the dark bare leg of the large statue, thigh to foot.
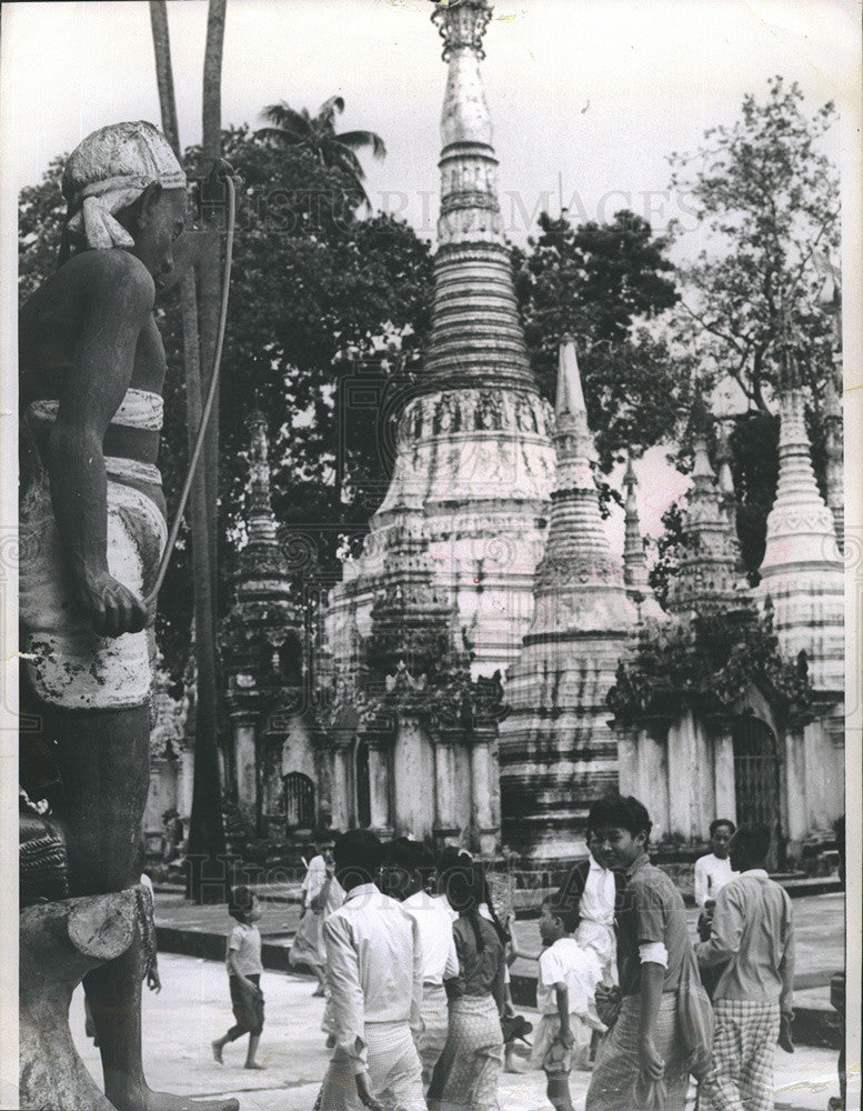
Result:
M73 894L119 891L140 880L141 822L150 781L149 707L52 711L63 783ZM141 1063L140 932L116 960L90 972L84 990L99 1035L104 1092L118 1111L237 1111L237 1100L153 1092Z

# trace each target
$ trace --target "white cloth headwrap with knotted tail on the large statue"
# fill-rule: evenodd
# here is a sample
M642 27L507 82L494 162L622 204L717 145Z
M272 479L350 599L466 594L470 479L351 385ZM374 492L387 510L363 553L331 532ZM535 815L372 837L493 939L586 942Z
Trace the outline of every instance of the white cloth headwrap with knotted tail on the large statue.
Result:
M88 247L132 247L134 240L113 213L157 181L164 189L185 189L182 167L152 123L112 123L93 131L69 156L63 172L67 231Z

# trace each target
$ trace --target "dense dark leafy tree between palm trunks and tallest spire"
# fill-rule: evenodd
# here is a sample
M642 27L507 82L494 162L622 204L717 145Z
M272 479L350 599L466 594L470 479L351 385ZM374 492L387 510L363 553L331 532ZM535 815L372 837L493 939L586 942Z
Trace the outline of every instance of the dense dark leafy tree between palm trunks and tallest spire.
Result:
M251 409L269 417L274 509L295 557L298 585L311 591L315 580L335 579L344 533L363 532L389 479L391 459L380 458L377 414L368 420L368 410L345 409L351 380L395 386L428 330L431 291L428 243L390 217L357 219L359 199L339 168L322 166L300 147L277 150L248 128L223 133L223 156L243 191L222 358L219 613L230 603L232 549L241 539ZM200 160L199 150L188 152L191 172ZM172 370L165 410L180 427L181 328L171 304L164 320ZM181 477L187 458L182 438L167 423L164 469ZM369 477L378 478L371 498ZM188 609L185 559L178 552L173 581L163 591L167 658L174 630L188 628L180 617Z

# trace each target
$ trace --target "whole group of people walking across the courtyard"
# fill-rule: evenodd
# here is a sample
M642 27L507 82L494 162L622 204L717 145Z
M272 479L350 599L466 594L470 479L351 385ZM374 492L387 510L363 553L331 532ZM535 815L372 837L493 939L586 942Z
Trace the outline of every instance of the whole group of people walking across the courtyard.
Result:
M701 1109L770 1111L774 1047L793 1051L794 969L791 901L764 869L770 831L714 823L696 865L694 943L680 891L650 861L651 829L634 798L591 807L590 857L544 900L535 954L514 944L469 854L435 859L369 830L338 837L310 868L298 931L325 984L333 1051L318 1108L496 1109L508 963L520 955L539 963L531 1063L555 1111L573 1111L573 1068L592 1070L585 1111L683 1111L691 1075ZM244 939L229 941L234 970ZM221 1059L245 1022L251 1068L262 1024L253 987L232 979L238 1025L213 1044Z

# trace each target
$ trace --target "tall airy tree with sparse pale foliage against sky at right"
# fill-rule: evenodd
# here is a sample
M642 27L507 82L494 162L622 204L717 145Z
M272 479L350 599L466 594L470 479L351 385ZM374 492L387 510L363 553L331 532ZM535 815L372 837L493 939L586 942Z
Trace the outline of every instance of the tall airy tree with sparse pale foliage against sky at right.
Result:
M839 259L840 198L824 139L832 102L807 114L796 83L781 77L766 100L744 97L737 119L711 128L692 153L672 154L672 188L692 202L706 246L680 267L681 340L716 381L736 383L749 411L734 419L732 469L744 563L755 572L775 496L783 342L793 344L807 389L813 462L824 482L824 388L832 372L826 273ZM682 237L681 229L675 233Z

